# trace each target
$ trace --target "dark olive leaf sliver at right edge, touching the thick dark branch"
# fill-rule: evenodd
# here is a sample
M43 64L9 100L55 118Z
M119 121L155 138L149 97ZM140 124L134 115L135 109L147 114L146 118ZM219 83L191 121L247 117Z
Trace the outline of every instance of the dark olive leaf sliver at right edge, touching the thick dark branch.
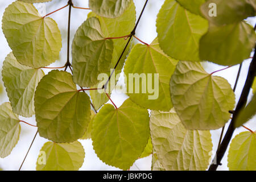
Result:
M238 118L235 123L235 127L242 126L244 123L249 121L256 114L256 95L254 94L253 98L245 109L241 110L238 114Z

